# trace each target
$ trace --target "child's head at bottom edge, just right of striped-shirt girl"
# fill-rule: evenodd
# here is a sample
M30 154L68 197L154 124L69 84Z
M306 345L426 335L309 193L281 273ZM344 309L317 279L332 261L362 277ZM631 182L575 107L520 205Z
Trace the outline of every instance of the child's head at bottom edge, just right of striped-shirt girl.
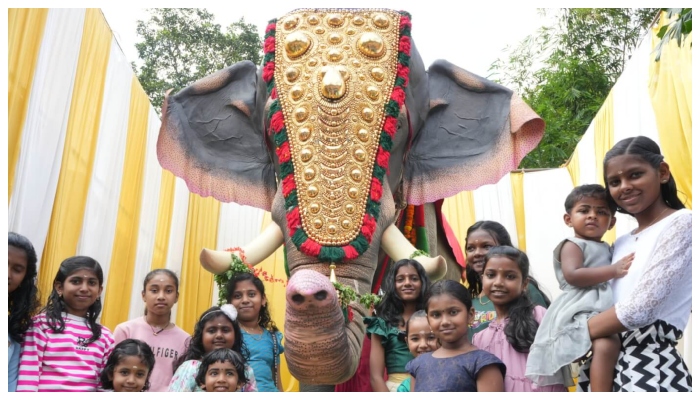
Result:
M145 392L150 387L156 364L153 350L141 340L126 339L114 346L102 370L100 381L105 392Z

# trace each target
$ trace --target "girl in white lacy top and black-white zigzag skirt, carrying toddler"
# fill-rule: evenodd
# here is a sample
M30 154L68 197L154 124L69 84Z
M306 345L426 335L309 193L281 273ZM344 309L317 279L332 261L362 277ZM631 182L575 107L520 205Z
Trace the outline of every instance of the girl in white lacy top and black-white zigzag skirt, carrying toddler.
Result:
M615 241L613 263L629 253L629 274L613 281L615 305L588 320L591 339L622 333L613 391L692 391L676 343L692 307L692 215L677 195L659 146L638 136L604 159L606 189L639 227ZM587 390L587 366L579 390Z

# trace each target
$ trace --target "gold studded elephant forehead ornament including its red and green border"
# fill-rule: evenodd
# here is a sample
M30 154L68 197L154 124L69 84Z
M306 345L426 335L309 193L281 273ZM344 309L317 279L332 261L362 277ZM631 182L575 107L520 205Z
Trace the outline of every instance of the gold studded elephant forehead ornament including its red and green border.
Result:
M409 31L391 10L298 10L268 31L263 79L289 234L321 261L354 259L372 240Z

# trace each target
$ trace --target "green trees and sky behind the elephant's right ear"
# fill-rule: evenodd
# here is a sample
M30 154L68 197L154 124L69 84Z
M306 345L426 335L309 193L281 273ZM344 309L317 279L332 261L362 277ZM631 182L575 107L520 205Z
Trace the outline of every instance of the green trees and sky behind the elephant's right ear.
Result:
M658 9L541 10L550 24L490 67L547 123L521 168L559 167L593 121ZM534 71L534 72L533 72Z

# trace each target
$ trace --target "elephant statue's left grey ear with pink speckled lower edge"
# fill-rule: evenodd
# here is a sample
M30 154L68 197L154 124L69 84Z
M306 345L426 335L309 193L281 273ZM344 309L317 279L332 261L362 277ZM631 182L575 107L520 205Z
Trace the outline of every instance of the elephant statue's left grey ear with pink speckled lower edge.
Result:
M265 145L265 84L241 61L166 94L158 161L200 196L270 210L276 190Z

